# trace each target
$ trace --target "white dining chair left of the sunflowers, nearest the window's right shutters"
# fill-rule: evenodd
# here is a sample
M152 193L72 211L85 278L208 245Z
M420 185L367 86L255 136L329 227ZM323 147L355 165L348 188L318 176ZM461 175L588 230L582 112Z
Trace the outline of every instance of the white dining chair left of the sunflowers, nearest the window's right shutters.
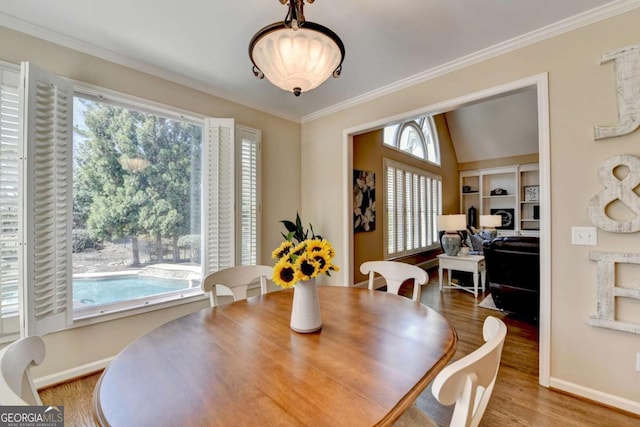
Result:
M239 265L208 274L202 280L204 292L210 292L211 306L218 305L219 295L231 295L234 301L247 298L249 285L260 281L260 293L267 293L267 279L273 276L268 265ZM222 287L222 289L220 288ZM226 289L226 292L223 290Z

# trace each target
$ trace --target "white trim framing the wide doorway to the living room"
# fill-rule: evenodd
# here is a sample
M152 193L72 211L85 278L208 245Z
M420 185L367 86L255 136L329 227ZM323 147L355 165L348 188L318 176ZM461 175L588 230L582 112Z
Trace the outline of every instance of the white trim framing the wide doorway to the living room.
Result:
M538 149L540 167L540 323L539 323L539 383L549 387L551 375L551 158L549 138L549 90L548 75L541 73L526 77L503 85L480 90L458 98L441 101L434 105L425 106L411 112L396 115L396 117L412 117L418 114L437 114L452 111L464 105L494 97L501 94L535 87L538 94ZM352 212L353 193L351 188L353 168L353 135L380 128L389 123L390 118L383 118L373 122L345 129L343 131L343 201L344 201L344 234L345 254L343 258L343 277L351 283L353 281L353 230Z

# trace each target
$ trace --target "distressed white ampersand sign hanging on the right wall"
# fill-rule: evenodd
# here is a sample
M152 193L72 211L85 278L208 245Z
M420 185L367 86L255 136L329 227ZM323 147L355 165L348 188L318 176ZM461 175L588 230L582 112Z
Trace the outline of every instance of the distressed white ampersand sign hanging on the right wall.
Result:
M619 179L614 170L626 166L627 175ZM640 197L633 191L640 185L640 157L631 154L618 154L609 157L598 168L598 180L604 190L589 200L587 215L598 228L614 233L633 233L640 230ZM606 209L611 203L621 201L634 214L629 219L616 220L607 215Z

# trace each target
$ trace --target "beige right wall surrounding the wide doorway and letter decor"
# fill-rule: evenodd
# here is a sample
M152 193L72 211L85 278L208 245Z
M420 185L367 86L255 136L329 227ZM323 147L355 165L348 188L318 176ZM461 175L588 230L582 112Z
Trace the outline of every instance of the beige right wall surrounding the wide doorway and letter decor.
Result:
M640 43L640 10L591 24L526 48L451 72L302 126L302 210L338 239L348 200L343 170L349 162L344 134L403 112L548 73L551 170L551 383L565 390L640 412L635 357L640 336L590 326L596 312L596 265L589 250L638 252L638 234L598 232L597 247L571 245L571 226L591 225L588 201L602 190L596 171L608 157L640 155L640 130L596 142L595 125L617 120L613 65L606 52ZM323 179L319 180L318 177ZM348 239L335 242L349 257ZM342 262L345 262L343 258ZM348 261L347 261L348 262ZM343 270L341 273L344 274ZM348 284L337 274L332 282ZM637 279L636 284L637 287ZM629 317L640 323L640 307Z

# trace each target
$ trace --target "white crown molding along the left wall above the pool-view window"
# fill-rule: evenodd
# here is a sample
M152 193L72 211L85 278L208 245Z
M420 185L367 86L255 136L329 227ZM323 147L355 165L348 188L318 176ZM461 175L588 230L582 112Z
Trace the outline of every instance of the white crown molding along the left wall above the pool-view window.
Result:
M177 83L179 85L195 89L197 91L213 95L218 98L222 98L226 101L235 102L236 104L243 105L245 107L253 108L258 111L262 111L267 114L271 114L276 117L280 117L282 119L300 123L300 117L291 116L288 114L283 114L282 112L273 110L265 105L258 104L246 98L238 97L232 95L228 92L222 91L218 88L215 88L206 83L200 82L198 80L185 77L178 73L173 73L167 71L163 68L156 67L154 65L147 64L142 61L135 60L128 56L113 52L108 49L101 48L94 44L78 40L73 37L66 36L57 31L48 30L37 25L26 22L20 18L17 18L12 15L8 15L6 13L0 12L0 26L9 28L11 30L15 30L21 33L28 34L33 37L37 37L39 39L55 43L57 45L76 50L78 52L82 52L91 56L95 56L100 59L104 59L109 62L113 62L119 65L123 65L125 67L141 71L146 74L150 74L155 77L159 77L161 79Z

